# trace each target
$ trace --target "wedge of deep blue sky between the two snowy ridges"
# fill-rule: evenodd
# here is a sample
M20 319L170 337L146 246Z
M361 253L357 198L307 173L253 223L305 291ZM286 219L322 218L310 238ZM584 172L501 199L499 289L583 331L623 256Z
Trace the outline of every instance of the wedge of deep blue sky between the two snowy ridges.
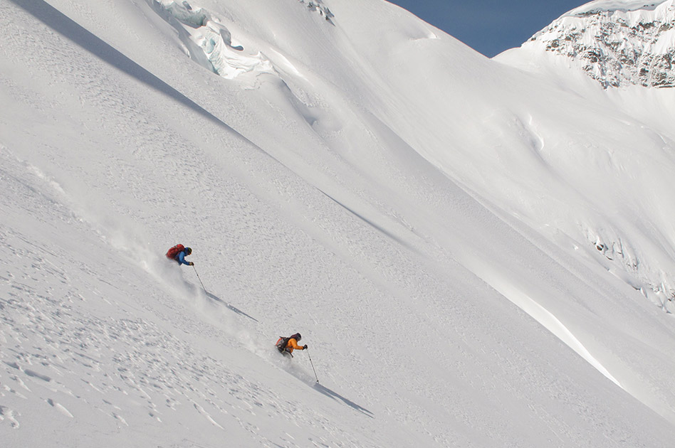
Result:
M388 0L488 57L519 47L585 0Z

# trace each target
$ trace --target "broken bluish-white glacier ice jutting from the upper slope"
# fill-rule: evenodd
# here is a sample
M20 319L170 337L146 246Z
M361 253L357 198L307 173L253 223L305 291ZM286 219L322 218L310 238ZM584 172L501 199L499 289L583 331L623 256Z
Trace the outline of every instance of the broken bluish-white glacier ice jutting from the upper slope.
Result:
M179 33L192 60L226 79L242 73L274 73L271 62L260 52L244 54L229 29L204 8L187 1L148 0L152 8Z

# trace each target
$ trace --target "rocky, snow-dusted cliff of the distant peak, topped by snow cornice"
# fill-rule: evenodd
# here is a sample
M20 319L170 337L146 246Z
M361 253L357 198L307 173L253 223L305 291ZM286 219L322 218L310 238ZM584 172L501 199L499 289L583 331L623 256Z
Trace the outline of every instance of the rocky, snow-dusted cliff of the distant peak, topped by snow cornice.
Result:
M592 1L525 46L570 58L603 87L675 87L675 1Z

